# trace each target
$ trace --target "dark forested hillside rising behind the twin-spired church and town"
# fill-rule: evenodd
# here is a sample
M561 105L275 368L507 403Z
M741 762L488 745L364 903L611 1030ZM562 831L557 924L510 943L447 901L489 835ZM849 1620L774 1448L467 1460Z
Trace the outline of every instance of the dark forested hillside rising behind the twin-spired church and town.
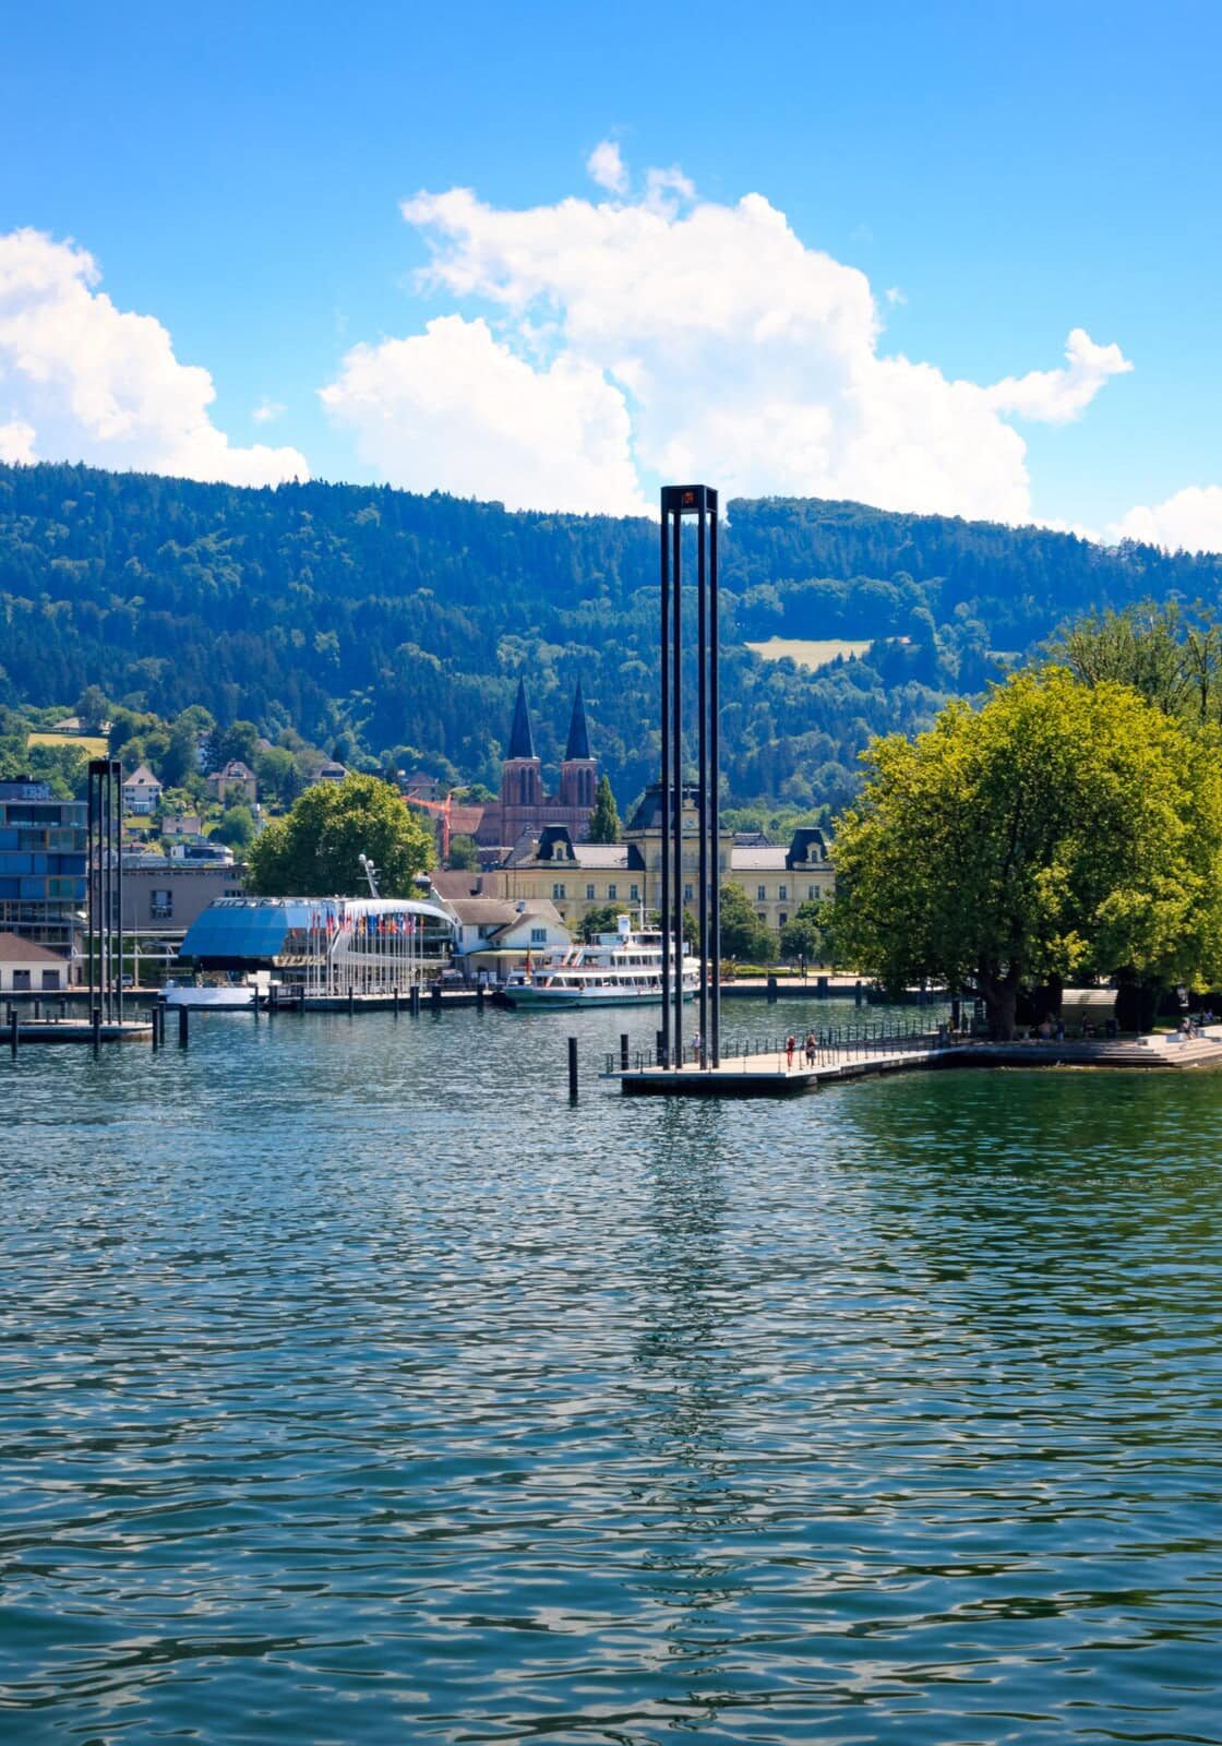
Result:
M819 499L740 501L723 538L733 798L838 805L871 733L922 726L1058 622L1219 595L1215 557ZM873 639L817 674L772 636ZM0 704L87 684L175 716L203 704L347 761L498 780L525 674L557 760L574 681L621 796L655 768L656 529L506 513L368 485L244 491L84 466L0 466Z

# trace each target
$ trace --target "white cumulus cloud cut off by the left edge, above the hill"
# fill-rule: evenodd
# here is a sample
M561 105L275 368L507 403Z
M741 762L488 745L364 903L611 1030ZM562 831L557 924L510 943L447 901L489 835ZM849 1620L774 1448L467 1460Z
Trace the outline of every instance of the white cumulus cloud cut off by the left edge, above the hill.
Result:
M152 316L98 290L93 257L38 230L0 236L0 452L265 485L307 478L297 449L234 447L211 375Z

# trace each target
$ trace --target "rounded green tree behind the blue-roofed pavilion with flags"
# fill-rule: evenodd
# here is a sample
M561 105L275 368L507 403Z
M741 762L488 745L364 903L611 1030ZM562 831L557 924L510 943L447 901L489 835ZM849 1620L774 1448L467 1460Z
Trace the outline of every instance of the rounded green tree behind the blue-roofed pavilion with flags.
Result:
M377 866L384 897L412 892L433 866L433 833L375 775L318 782L251 845L250 889L267 897L360 896L360 857Z

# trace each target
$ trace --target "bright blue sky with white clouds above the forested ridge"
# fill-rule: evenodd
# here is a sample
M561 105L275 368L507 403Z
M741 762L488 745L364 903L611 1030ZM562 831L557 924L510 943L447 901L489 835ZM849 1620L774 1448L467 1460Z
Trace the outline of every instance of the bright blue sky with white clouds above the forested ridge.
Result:
M0 237L59 246L0 253L10 456L1222 545L1215 9L168 10L7 21Z

